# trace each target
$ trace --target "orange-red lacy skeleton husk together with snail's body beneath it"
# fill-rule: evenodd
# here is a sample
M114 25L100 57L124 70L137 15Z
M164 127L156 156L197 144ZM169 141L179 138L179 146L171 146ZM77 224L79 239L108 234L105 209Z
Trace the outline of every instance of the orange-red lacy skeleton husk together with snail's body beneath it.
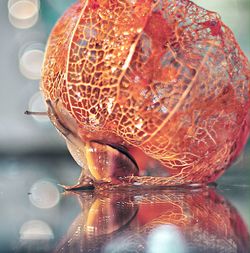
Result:
M231 30L189 0L81 0L50 35L41 88L85 168L75 187L206 184L248 139L249 76Z

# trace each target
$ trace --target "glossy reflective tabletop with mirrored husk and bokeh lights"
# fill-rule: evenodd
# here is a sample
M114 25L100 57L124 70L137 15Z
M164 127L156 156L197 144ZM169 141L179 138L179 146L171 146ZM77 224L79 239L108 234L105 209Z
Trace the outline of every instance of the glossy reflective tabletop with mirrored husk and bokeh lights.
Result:
M1 157L0 252L250 252L248 159L205 188L73 193L71 158Z

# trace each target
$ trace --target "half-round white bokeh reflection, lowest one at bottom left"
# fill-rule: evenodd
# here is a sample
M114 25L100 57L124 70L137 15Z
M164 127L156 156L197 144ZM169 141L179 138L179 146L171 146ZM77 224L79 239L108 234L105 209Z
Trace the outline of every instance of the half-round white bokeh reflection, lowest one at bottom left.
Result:
M50 226L41 220L30 220L20 228L20 240L51 240L54 233Z

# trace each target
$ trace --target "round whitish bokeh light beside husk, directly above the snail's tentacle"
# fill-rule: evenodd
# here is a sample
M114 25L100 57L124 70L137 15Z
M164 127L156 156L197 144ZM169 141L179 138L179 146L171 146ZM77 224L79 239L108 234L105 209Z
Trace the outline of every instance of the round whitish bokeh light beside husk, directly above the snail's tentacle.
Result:
M19 52L20 72L28 79L38 80L41 78L41 69L44 58L44 45L31 43L21 48Z

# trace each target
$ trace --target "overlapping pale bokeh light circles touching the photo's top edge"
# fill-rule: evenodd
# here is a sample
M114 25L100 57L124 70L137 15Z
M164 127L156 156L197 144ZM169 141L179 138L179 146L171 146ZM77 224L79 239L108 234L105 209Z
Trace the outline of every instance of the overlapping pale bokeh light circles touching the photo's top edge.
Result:
M30 28L38 20L39 8L39 0L9 0L9 21L16 28Z

